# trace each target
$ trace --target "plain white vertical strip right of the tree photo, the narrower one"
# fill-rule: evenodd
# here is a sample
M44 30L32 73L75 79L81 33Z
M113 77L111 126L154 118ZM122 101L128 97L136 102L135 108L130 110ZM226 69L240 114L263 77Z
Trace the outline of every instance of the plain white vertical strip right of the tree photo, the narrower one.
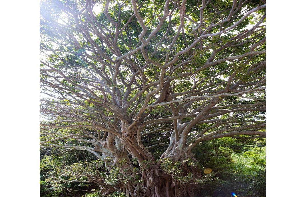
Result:
M296 1L268 1L266 7L268 197L296 196L296 6Z

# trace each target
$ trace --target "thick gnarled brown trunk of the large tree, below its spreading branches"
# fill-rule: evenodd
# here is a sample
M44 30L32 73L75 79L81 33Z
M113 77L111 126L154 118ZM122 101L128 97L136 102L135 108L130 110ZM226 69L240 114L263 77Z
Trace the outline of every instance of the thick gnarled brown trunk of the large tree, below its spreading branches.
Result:
M163 161L156 161L152 153L150 153L141 143L139 134L139 128L137 124L129 125L122 124L122 135L119 137L120 142L117 142L116 145L113 143L115 136L109 134L106 139L106 145L104 147L111 150L114 156L113 165L119 164L121 159L125 158L126 161L129 161L130 158L127 156L127 152L136 158L139 164L139 171L134 172L132 169L135 167L132 164L125 164L121 169L123 174L138 174L141 175L141 181L138 183L128 181L126 183L119 183L115 186L107 186L102 179L92 180L96 182L101 189L101 193L105 196L110 196L116 191L123 192L124 194L131 197L187 197L195 196L194 192L198 189L198 185L194 182L183 182L177 180L177 177L187 176L189 173L193 174L193 178L200 178L201 175L194 167L187 166L186 163L182 162L183 160L189 158L188 154L184 154L184 151L179 150L174 144L170 150L167 151L167 154L163 154L162 158L172 160L173 163L176 161L181 161L181 173L179 174L167 174L162 170L161 164ZM121 147L117 147L117 145ZM194 158L192 158L194 159ZM195 159L194 159L195 160Z

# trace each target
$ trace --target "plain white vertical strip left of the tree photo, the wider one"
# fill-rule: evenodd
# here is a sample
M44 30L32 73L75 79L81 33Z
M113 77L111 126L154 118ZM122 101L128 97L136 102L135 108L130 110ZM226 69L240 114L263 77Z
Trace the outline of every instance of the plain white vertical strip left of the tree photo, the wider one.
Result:
M39 1L1 1L1 196L39 196Z

